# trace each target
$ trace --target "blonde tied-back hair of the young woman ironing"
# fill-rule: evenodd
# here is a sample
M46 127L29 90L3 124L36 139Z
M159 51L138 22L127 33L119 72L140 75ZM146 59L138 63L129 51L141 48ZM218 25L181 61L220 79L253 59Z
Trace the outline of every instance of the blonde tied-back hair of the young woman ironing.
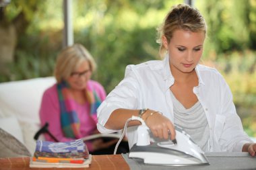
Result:
M160 56L163 56L166 51L162 44L162 36L165 36L167 42L170 43L174 31L180 29L191 32L205 32L206 35L207 26L198 9L185 4L173 6L158 28L158 40L156 42L160 44Z

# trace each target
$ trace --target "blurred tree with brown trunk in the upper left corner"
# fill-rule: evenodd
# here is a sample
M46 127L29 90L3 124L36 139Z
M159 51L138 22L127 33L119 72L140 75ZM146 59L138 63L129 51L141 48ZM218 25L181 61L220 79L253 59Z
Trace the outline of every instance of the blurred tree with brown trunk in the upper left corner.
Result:
M43 1L13 0L0 7L0 71L7 72L7 63L13 62L17 42L26 32L33 13Z

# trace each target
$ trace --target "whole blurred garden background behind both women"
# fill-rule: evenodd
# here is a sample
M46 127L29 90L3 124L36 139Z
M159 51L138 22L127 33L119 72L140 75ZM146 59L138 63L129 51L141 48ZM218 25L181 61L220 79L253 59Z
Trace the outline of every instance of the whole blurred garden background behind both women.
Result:
M73 0L73 42L98 63L109 93L125 67L159 59L156 28L183 0ZM5 6L6 5L6 6ZM208 26L202 63L218 69L249 136L256 137L256 0L194 0ZM0 83L49 77L63 48L63 0L0 1Z

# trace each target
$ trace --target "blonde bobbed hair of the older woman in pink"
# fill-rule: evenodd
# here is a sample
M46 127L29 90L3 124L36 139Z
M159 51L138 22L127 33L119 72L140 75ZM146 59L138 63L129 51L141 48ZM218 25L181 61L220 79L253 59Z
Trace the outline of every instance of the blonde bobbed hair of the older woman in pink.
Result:
M57 56L57 61L55 65L55 79L58 83L71 75L77 67L84 61L88 60L91 71L95 71L96 62L88 50L82 46L82 44L73 44L61 50Z

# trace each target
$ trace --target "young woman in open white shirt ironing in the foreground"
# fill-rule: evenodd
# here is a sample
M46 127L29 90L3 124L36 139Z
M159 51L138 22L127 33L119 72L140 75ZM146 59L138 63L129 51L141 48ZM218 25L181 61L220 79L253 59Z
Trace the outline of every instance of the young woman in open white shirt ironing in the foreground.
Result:
M116 132L131 116L140 116L153 138L175 138L181 126L207 152L245 151L255 156L256 144L243 131L232 93L222 75L199 65L207 26L201 13L177 5L159 28L163 60L129 65L125 78L98 108L98 130ZM129 123L129 146L137 142Z

